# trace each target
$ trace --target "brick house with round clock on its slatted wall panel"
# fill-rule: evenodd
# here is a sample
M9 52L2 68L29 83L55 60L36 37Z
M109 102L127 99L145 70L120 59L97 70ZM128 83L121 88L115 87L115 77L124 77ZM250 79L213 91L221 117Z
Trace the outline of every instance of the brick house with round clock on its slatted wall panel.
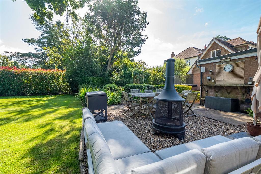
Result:
M213 38L198 55L187 74L194 75L193 83L198 85L201 98L238 98L241 104L248 89L251 96L252 79L258 69L256 43L240 37L228 41Z

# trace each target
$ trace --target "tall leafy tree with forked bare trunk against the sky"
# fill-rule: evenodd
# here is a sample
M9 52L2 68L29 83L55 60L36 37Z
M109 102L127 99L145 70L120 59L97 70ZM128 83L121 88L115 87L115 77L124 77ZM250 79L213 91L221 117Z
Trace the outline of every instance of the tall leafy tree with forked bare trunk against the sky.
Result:
M85 22L97 45L107 52L107 73L124 53L132 57L140 53L147 39L142 32L149 23L138 0L96 0L88 7Z

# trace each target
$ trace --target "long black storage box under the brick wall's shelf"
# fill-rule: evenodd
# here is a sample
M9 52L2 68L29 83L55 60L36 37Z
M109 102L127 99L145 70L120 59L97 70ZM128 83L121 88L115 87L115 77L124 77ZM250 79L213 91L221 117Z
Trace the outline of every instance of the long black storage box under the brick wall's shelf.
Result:
M205 107L226 112L238 111L238 98L205 97Z

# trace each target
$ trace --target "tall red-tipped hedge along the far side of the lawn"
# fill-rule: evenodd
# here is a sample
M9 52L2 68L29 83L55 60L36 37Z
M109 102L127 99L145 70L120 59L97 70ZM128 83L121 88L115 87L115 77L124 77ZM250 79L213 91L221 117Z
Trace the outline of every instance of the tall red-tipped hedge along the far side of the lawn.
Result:
M71 93L62 70L0 67L0 95L49 95Z

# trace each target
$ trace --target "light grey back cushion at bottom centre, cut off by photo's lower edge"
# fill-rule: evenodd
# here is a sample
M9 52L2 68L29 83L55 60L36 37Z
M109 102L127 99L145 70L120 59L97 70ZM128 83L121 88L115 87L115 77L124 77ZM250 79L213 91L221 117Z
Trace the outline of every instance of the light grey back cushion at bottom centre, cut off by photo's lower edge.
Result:
M203 174L206 156L198 149L183 152L179 155L166 158L156 163L132 169L132 174L173 174L191 173Z

